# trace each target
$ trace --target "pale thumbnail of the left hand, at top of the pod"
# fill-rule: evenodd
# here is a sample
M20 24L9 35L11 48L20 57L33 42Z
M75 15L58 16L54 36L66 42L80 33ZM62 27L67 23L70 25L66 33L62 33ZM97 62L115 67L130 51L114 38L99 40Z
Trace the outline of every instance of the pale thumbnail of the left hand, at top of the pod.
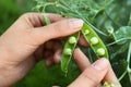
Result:
M70 25L71 25L71 27L74 27L74 29L78 29L83 26L83 21L79 20L79 18L72 18L70 21Z

